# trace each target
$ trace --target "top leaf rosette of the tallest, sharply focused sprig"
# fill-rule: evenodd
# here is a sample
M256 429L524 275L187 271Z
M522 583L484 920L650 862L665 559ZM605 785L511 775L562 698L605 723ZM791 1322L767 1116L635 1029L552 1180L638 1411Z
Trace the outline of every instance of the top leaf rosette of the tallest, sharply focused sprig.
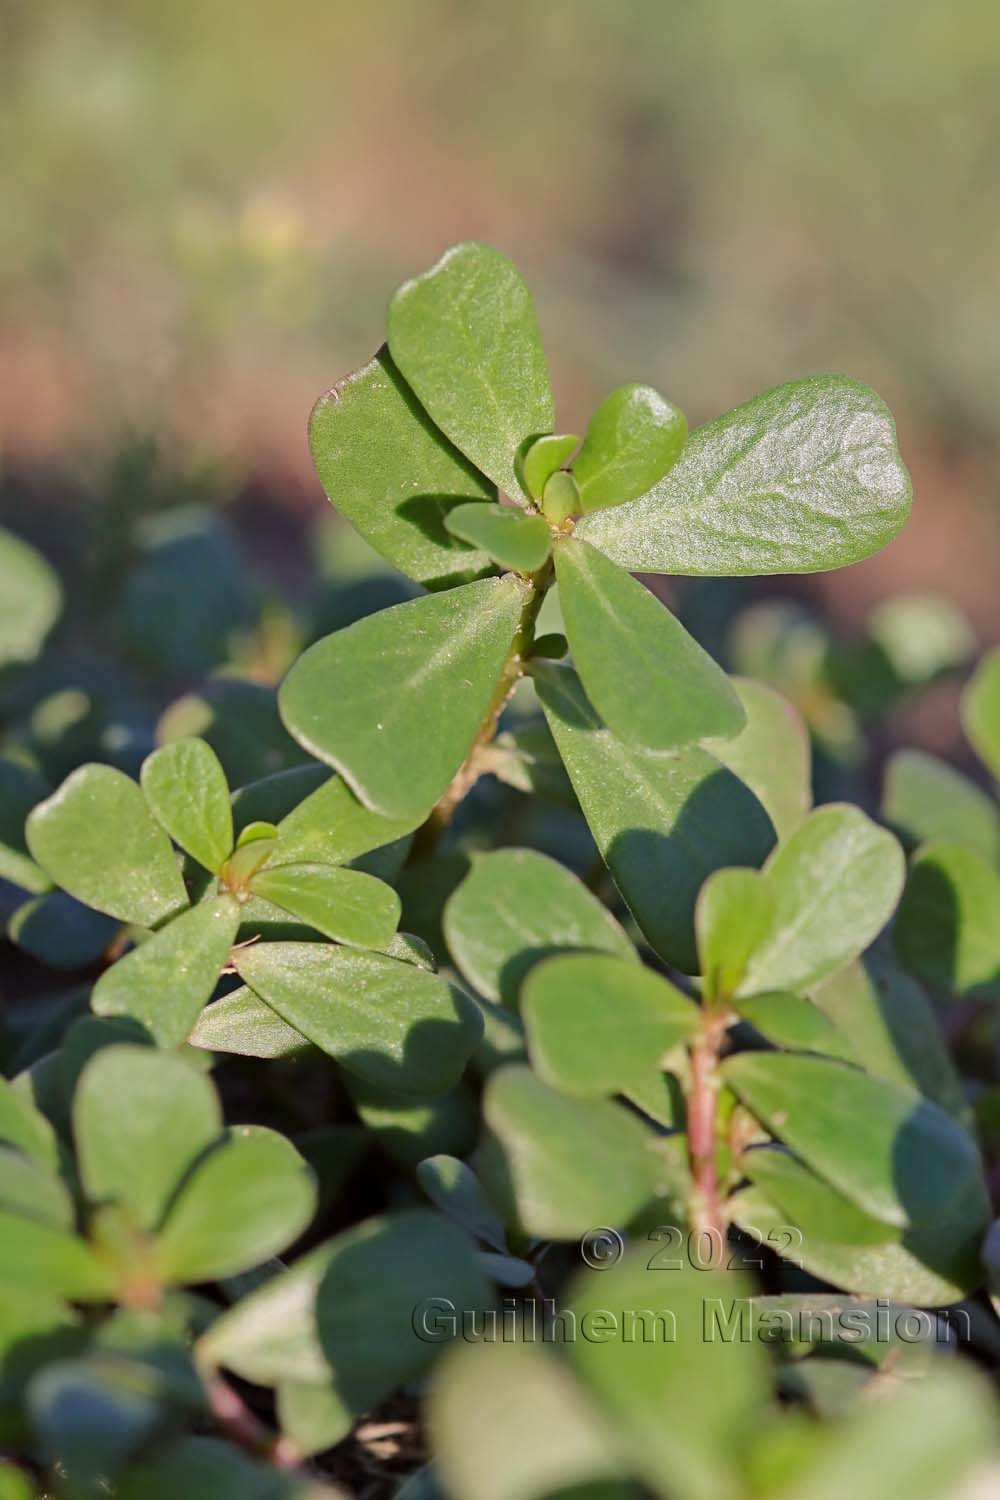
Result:
M538 552L507 561L519 556L534 572L529 564L555 550L567 634L594 706L624 740L672 752L738 734L742 708L711 657L624 568L840 567L895 534L910 483L888 410L856 381L781 386L682 448L679 412L652 392L631 399L637 390L604 404L577 459L582 506L598 508L573 537L553 528ZM282 687L289 730L378 812L429 810L498 694L532 585L517 573L483 578L495 573L493 558L456 550L448 518L481 512L487 525L456 530L492 538L526 522L549 530L528 508L564 474L570 440L552 428L531 294L483 244L459 244L406 282L390 306L388 351L313 412L312 452L330 500L403 573L448 590L318 642ZM499 507L498 489L522 508Z

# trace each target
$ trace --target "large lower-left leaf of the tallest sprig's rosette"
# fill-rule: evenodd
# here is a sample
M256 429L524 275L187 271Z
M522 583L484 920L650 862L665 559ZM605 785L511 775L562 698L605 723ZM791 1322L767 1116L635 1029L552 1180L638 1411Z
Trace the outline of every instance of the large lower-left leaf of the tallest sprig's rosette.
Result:
M285 723L375 812L426 814L490 706L528 592L514 574L483 579L337 630L285 678Z

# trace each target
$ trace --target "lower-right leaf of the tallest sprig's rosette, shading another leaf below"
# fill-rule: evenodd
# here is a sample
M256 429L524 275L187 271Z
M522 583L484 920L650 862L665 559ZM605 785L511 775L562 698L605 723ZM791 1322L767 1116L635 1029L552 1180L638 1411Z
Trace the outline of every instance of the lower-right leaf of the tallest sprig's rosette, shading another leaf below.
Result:
M729 678L648 588L570 537L555 555L573 662L616 735L678 750L739 734L747 718Z

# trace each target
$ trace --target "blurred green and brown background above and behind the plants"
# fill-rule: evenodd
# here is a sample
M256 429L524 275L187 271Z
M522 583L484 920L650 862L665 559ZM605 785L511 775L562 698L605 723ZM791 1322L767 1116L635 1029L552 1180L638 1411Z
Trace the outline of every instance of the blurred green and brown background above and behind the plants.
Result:
M793 586L847 628L930 586L1000 630L991 0L4 0L0 69L7 524L127 489L150 436L160 500L316 513L313 399L481 237L534 286L564 430L622 380L693 422L874 384L913 524Z

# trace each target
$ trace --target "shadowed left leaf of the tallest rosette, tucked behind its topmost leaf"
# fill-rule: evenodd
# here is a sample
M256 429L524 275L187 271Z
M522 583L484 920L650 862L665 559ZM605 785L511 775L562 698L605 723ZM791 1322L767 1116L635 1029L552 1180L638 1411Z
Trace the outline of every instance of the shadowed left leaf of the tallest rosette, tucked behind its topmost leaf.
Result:
M496 492L427 418L387 350L321 396L309 447L340 514L408 578L439 588L490 567L456 546L445 519Z

